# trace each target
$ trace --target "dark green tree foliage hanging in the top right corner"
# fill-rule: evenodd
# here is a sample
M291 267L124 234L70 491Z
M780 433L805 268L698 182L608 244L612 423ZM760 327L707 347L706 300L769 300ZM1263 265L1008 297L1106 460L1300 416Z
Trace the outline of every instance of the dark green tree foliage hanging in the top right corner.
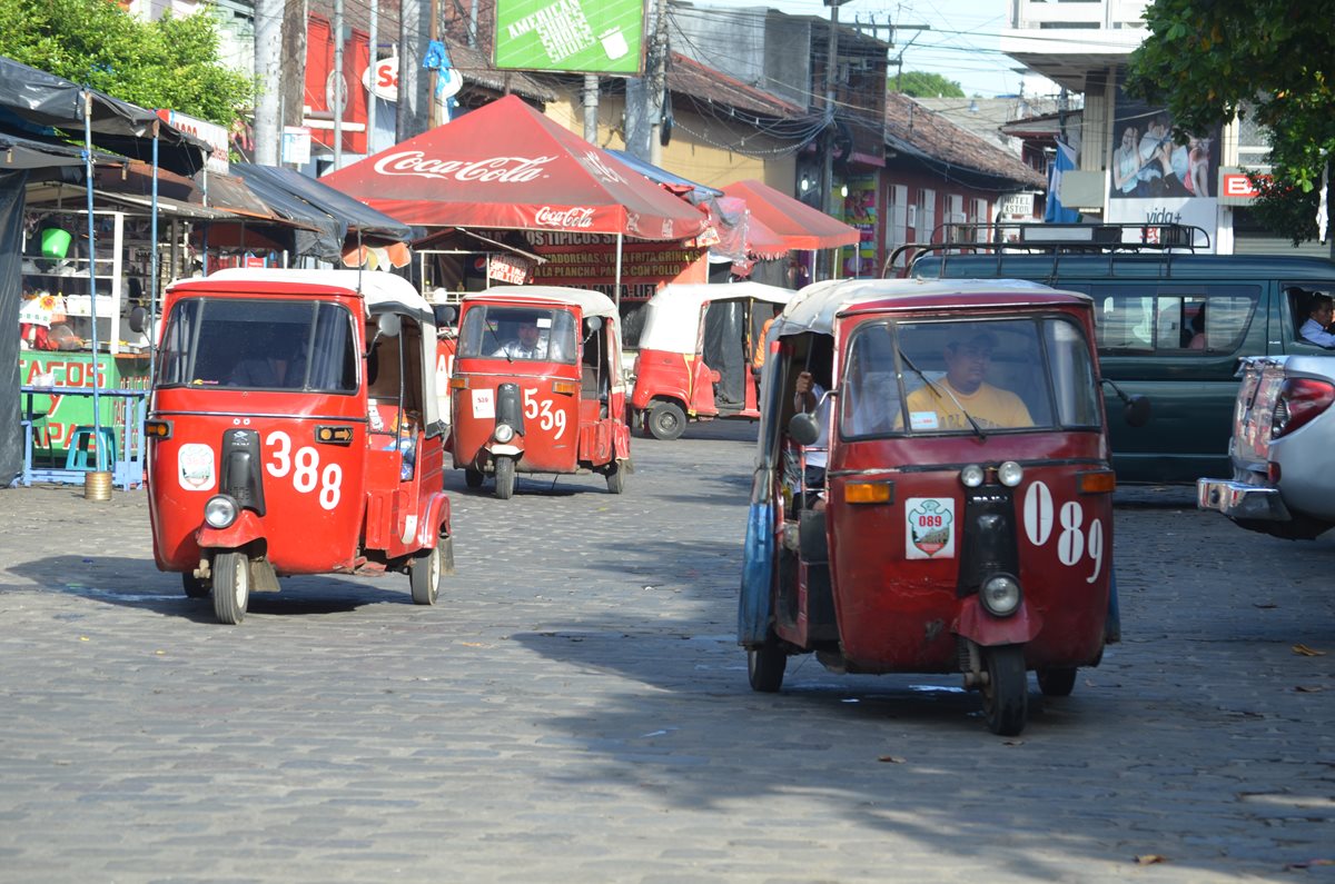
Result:
M1153 0L1127 92L1167 105L1177 132L1254 115L1272 179L1256 212L1295 242L1316 235L1316 188L1335 151L1335 0ZM1255 180L1255 179L1254 179Z

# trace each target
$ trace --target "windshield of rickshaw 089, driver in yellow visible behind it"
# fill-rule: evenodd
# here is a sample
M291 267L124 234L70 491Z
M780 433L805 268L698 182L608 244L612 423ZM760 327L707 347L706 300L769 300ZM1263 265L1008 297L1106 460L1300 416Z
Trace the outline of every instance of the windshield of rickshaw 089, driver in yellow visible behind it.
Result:
M1088 343L1063 318L864 323L841 387L845 438L1101 423Z

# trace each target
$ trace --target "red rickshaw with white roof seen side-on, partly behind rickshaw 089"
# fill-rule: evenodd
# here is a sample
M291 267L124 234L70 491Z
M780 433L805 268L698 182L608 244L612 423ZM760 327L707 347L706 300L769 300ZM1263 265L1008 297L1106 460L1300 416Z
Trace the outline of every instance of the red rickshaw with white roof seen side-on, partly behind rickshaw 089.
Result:
M686 421L760 418L765 331L792 288L758 282L673 283L643 306L630 407L657 439Z

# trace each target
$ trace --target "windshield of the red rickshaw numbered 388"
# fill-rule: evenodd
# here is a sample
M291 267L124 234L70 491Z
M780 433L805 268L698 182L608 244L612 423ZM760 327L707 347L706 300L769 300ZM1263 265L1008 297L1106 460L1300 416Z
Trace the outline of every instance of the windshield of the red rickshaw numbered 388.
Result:
M190 298L167 319L158 385L355 393L355 342L335 303Z

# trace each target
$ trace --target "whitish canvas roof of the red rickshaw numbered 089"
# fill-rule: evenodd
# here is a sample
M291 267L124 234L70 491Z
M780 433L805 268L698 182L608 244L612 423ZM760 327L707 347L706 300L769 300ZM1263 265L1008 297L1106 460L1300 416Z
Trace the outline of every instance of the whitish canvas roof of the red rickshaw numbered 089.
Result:
M1089 302L1088 295L1077 291L1024 279L826 279L797 292L774 324L780 337L806 331L833 334L836 318L873 304L878 308L916 310Z

